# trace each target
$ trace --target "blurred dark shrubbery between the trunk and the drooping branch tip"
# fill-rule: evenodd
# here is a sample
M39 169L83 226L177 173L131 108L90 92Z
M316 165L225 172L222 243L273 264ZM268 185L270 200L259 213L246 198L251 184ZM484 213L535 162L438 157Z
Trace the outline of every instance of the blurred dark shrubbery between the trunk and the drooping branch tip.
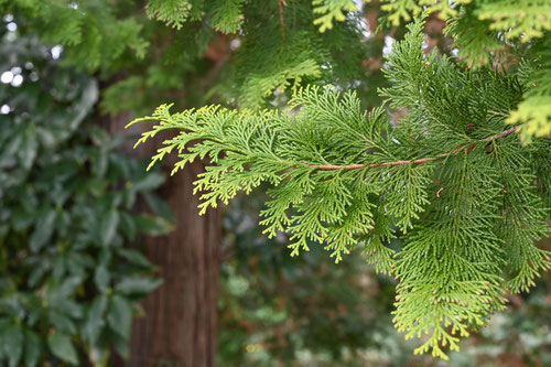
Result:
M387 339L402 339L386 314L395 281L376 281L360 256L343 267L318 247L289 257L285 236L261 234L256 212L263 199L233 201L224 219L219 365L363 366L368 348L391 354L396 365L410 359Z

